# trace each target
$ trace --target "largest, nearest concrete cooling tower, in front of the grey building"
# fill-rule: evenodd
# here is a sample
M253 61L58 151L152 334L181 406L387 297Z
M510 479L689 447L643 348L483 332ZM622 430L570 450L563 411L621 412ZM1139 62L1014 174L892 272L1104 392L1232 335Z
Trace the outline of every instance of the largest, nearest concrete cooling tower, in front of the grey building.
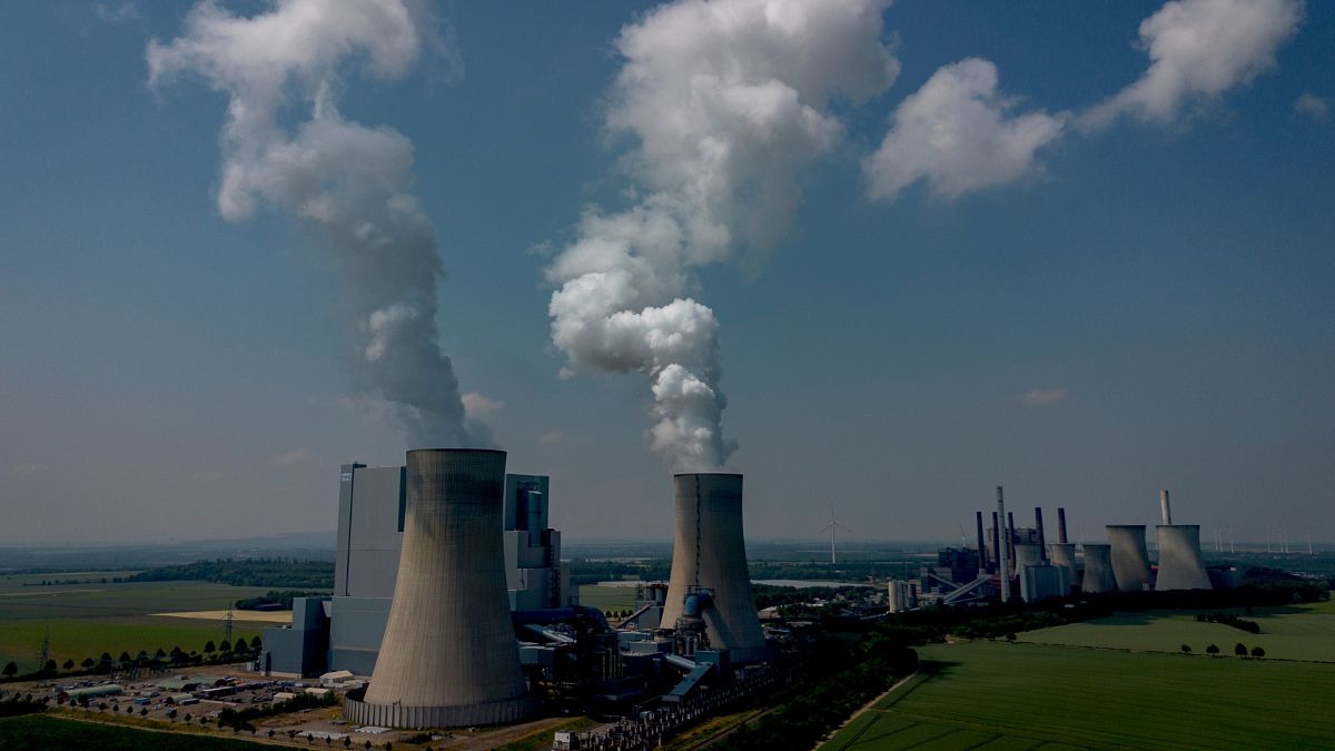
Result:
M535 710L506 599L505 457L409 452L394 603L364 699L344 703L350 720L458 727L515 722Z

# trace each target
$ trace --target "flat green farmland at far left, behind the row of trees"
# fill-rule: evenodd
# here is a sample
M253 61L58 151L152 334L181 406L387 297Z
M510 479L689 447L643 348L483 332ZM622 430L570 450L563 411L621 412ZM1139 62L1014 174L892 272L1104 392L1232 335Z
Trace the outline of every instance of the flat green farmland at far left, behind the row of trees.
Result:
M240 597L267 592L259 587L228 587L203 581L144 581L128 584L63 584L24 587L44 579L99 579L125 572L7 575L0 577L0 664L13 660L20 672L36 669L41 640L51 629L56 663L136 655L180 647L200 651L206 641L223 640L216 620L163 617L154 613L226 609ZM234 639L258 636L263 624L235 621Z

